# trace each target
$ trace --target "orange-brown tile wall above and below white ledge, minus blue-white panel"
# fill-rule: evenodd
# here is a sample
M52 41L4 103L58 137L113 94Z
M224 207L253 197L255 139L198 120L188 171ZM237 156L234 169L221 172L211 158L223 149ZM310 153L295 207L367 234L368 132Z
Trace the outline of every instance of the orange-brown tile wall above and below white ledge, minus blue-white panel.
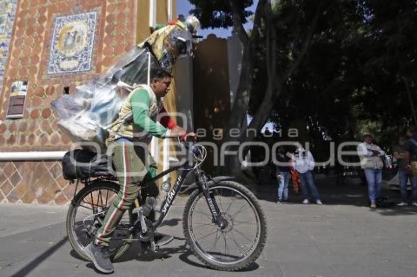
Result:
M143 11L148 13L148 11ZM57 17L95 13L91 69L48 74ZM52 151L71 140L57 127L53 99L110 67L136 44L134 0L20 0L0 88L0 152ZM11 85L27 80L23 118L6 119ZM0 203L67 204L75 185L62 177L60 161L0 162Z

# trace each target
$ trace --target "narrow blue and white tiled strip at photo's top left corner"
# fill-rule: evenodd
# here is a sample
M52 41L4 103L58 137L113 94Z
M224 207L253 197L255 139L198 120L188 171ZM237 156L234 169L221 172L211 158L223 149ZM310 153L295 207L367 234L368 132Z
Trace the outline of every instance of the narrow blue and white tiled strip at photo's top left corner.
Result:
M15 21L17 0L0 0L0 92L9 56L10 38Z

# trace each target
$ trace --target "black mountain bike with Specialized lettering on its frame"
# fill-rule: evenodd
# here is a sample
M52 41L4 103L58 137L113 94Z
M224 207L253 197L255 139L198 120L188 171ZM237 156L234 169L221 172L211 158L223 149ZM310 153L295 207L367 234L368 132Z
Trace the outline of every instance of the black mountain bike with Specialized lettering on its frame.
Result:
M266 218L255 195L234 177L211 178L201 169L207 156L204 146L189 143L188 161L175 165L152 180L142 182L141 193L134 207L125 212L111 239L112 259L121 257L133 241L151 244L153 251L155 231L162 224L180 192L184 180L195 173L195 183L182 193L190 193L182 216L182 229L191 251L205 265L224 271L248 267L261 254L266 241ZM146 197L147 184L175 170L180 173L162 203ZM119 185L115 176L101 176L94 181L81 180L85 186L71 202L66 228L70 243L78 256L86 261L86 247L103 224L104 215L116 197ZM164 183L165 191L167 183ZM78 186L78 182L77 182ZM169 188L170 185L168 185ZM159 213L156 220L152 218ZM211 238L211 240L210 240Z

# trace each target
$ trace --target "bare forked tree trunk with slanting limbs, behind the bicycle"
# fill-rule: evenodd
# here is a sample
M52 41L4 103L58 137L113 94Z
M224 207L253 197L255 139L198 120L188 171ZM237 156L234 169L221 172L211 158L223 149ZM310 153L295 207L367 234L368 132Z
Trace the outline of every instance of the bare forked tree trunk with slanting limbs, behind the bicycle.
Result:
M300 53L297 59L293 62L293 64L289 67L289 69L282 75L278 74L278 70L276 69L276 44L277 44L277 33L275 29L275 24L273 24L274 16L271 11L271 5L269 1L260 0L258 3L257 11L255 14L255 23L254 23L254 30L252 36L250 37L248 43L244 45L243 50L243 57L242 57L242 71L240 75L239 86L236 92L236 100L234 107L232 109L232 115L229 119L228 128L225 130L225 137L223 142L231 142L235 141L235 138L230 136L230 129L238 128L240 130L240 136L238 138L239 143L244 143L247 141L254 141L256 135L253 132L249 132L246 134L247 129L256 129L259 131L261 127L265 124L272 113L272 108L275 103L275 100L278 98L279 94L282 91L283 85L285 80L291 75L293 70L295 70L301 60L303 59L304 55L306 54L307 48L310 44L310 41L313 36L314 29L318 22L318 17L321 11L321 3L318 5L316 9L316 13L313 19L313 23L311 28L308 32L308 35L303 43L303 46L300 50ZM266 28L266 40L267 40L267 72L268 72L268 86L261 102L260 108L258 109L257 113L253 117L249 126L245 126L243 123L245 122L246 113L249 106L249 99L250 93L252 92L252 71L253 71L253 61L252 59L255 56L255 43L259 37L259 30L260 30L260 23L261 23L261 11L263 11L263 19L264 25ZM241 26L243 28L243 26ZM231 146L227 150L228 151L236 151L238 150L238 146ZM248 152L248 148L243 150L243 157L246 156ZM220 153L223 155L223 153ZM238 159L238 155L226 156L225 157L225 166L223 168L223 173L232 174L232 175L239 175L241 173L241 162Z

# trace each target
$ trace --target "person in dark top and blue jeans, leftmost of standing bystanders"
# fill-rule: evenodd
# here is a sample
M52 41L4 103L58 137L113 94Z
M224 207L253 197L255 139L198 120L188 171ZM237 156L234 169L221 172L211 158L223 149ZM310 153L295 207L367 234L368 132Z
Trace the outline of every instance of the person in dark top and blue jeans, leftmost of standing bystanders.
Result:
M289 203L288 183L290 176L290 158L287 157L284 147L278 148L276 173L278 179L278 201L277 203Z

